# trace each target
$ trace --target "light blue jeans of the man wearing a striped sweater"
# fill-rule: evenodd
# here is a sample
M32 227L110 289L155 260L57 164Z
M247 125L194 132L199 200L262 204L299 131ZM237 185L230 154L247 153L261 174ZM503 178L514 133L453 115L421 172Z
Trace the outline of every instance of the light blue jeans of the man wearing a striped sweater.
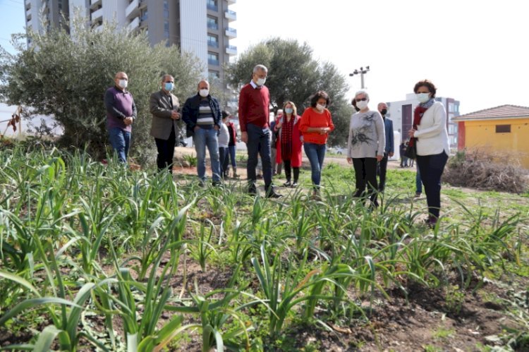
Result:
M220 182L219 142L217 130L214 128L198 128L193 134L193 142L197 151L197 174L200 181L206 181L206 147L211 158L213 182Z

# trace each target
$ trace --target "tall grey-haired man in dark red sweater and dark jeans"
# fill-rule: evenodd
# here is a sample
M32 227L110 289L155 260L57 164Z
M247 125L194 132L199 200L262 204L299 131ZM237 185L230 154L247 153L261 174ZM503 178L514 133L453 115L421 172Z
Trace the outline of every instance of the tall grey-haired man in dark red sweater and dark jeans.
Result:
M272 186L272 160L270 152L271 131L269 129L270 93L265 86L268 68L257 65L253 68L252 80L241 89L239 95L239 123L241 140L248 149L248 193L257 195L255 166L257 154L262 161L262 176L265 179L267 198L280 198Z

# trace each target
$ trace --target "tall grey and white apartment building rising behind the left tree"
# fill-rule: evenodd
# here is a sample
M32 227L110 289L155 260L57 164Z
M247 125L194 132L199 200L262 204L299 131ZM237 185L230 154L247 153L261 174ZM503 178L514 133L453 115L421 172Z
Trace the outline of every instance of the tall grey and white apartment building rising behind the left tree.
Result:
M145 30L152 45L177 44L202 61L203 75L219 80L223 87L223 66L237 48L230 40L237 37L232 28L237 14L229 9L236 0L25 0L26 25L42 31L40 13L49 25L66 25L66 19L80 11L90 18L92 28L115 20L130 30ZM28 43L30 44L30 43Z

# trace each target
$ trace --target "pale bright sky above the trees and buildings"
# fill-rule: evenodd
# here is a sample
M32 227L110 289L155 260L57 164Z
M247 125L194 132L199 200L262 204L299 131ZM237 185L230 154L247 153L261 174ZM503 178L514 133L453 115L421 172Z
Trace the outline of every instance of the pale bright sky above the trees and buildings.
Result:
M405 99L424 78L439 97L458 99L462 114L529 107L528 0L237 0L231 8L239 53L279 36L308 42L343 75L370 66L373 107ZM0 23L9 47L11 33L24 30L23 0L0 0ZM360 89L360 76L347 80Z

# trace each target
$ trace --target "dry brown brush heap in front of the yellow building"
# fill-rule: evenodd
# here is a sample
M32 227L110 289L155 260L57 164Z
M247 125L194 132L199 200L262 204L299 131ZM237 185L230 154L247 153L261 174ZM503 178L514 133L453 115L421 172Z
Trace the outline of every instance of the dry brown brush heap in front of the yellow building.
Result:
M527 171L515 157L485 150L463 150L449 159L443 181L452 186L523 193L528 188Z

